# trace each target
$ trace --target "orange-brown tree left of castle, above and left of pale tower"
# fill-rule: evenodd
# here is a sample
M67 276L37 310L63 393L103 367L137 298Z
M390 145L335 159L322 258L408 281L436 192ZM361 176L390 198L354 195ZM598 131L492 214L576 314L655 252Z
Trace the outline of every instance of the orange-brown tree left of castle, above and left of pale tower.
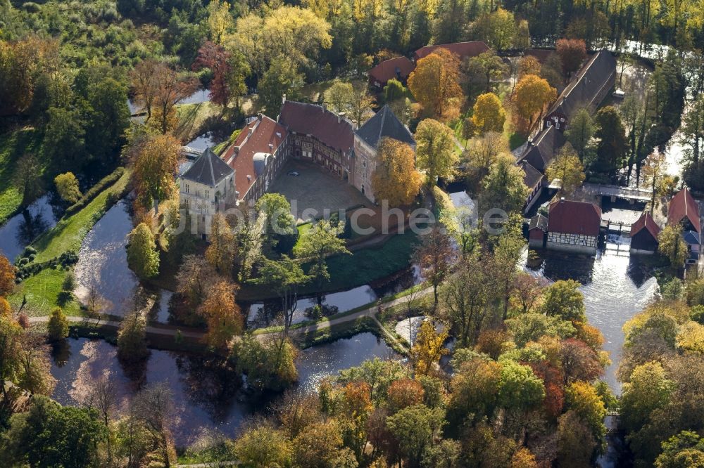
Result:
M181 152L179 141L170 135L156 135L146 139L134 155L132 174L137 197L142 207L158 204L176 193L175 175Z

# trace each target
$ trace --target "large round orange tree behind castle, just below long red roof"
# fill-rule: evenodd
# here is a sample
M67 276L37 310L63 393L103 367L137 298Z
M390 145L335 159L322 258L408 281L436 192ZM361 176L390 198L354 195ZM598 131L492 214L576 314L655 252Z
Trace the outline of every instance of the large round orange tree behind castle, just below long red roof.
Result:
M457 115L463 98L459 85L459 63L445 48L418 60L408 77L408 88L426 112L441 120Z

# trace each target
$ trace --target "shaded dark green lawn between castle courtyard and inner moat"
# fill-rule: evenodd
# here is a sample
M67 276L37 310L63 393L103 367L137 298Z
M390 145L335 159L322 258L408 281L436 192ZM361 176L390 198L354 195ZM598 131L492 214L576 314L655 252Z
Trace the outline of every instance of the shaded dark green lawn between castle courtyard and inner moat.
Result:
M333 256L327 260L330 282L321 292L347 290L353 287L367 285L374 280L386 278L410 264L413 249L418 243L417 235L404 233L392 236L386 243L378 247L358 250L351 255ZM298 294L314 294L315 287L306 285L298 290ZM258 301L272 299L270 285L242 285L237 299L242 301Z

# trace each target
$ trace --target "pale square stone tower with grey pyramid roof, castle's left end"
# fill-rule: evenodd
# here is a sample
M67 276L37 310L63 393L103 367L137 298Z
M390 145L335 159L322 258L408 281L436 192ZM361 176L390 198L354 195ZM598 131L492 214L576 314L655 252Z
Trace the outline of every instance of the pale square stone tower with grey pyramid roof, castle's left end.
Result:
M191 228L206 239L213 214L237 200L234 169L207 148L180 179L181 207L191 216Z

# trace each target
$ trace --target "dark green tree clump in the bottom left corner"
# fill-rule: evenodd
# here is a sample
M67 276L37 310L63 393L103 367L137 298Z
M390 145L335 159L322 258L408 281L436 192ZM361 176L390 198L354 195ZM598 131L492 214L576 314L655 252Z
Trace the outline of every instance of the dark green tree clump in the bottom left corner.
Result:
M84 467L99 464L99 443L105 437L95 411L34 396L29 411L11 417L3 445L20 465Z

